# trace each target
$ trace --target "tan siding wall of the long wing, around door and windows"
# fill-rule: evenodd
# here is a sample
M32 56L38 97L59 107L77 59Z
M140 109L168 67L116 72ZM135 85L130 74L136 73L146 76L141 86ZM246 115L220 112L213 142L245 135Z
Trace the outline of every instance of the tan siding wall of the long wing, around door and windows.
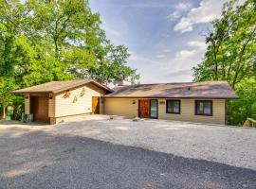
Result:
M133 102L136 101L136 104ZM159 103L163 101L164 104ZM104 113L132 118L138 115L137 98L105 98ZM225 125L225 99L212 100L212 116L195 115L194 99L180 99L180 114L166 113L166 99L158 99L158 119Z

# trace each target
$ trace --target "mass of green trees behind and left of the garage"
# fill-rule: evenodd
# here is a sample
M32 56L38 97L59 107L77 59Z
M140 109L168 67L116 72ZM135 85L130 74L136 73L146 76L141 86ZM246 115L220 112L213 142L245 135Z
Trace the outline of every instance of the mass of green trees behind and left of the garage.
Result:
M21 105L11 90L46 81L135 81L128 57L126 47L106 39L100 15L91 12L87 0L0 0L2 112Z

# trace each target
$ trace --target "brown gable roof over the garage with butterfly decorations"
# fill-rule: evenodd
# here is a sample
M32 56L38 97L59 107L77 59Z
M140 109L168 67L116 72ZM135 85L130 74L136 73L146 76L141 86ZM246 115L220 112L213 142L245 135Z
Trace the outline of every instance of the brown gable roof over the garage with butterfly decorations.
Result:
M77 79L77 80L64 80L64 81L51 81L40 85L35 85L32 87L27 87L24 89L13 91L13 94L29 94L29 93L44 93L44 94L58 94L66 90L75 89L81 87L87 83L92 83L101 89L112 92L111 89L102 85L95 80Z

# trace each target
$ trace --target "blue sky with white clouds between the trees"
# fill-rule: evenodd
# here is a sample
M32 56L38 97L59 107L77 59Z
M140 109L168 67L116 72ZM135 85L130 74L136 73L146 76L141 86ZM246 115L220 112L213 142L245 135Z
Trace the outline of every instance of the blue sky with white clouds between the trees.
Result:
M202 31L225 0L91 0L112 43L124 44L141 83L192 81L206 51Z

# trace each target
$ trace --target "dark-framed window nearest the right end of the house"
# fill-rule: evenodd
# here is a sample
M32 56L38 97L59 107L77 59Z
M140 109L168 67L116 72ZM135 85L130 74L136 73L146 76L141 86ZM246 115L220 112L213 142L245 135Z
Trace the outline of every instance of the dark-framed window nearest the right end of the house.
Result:
M195 114L212 116L212 101L211 100L195 100Z

